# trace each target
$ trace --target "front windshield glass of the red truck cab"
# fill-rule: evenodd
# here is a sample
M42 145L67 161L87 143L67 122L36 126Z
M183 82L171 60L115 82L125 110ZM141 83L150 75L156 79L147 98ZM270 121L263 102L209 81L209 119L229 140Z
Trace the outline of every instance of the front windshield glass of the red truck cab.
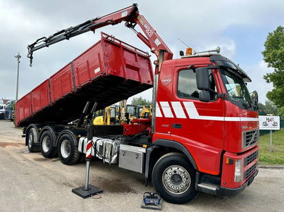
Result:
M250 98L250 93L248 92L248 88L246 88L244 80L224 68L221 68L221 72L228 95L235 101L246 101L246 103L250 105L252 99Z

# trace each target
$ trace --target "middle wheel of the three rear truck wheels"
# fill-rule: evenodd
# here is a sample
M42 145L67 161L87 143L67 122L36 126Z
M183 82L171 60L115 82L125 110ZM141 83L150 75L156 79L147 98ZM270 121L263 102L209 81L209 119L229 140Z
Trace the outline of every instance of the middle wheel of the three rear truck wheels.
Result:
M40 136L40 153L43 157L51 158L55 157L57 154L56 146L54 146L54 135L51 131L44 131Z

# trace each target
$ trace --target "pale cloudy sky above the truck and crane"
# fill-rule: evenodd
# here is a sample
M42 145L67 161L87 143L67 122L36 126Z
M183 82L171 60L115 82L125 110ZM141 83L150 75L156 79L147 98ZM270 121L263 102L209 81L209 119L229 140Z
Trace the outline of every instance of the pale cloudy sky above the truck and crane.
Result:
M284 25L284 1L67 1L67 0L0 0L0 98L15 98L16 68L14 55L21 54L19 98L60 70L100 38L100 31L111 34L144 51L150 51L123 24L88 32L69 41L34 52L34 65L29 67L27 44L54 34L60 29L78 25L88 19L104 16L132 3L156 29L178 58L188 44L193 50L205 51L219 46L221 54L244 69L252 79L250 92L257 90L264 103L272 84L263 75L272 72L263 62L263 43L268 32ZM138 29L139 27L137 27ZM179 40L180 39L180 40ZM155 56L151 57L152 62ZM151 90L138 96L152 99Z

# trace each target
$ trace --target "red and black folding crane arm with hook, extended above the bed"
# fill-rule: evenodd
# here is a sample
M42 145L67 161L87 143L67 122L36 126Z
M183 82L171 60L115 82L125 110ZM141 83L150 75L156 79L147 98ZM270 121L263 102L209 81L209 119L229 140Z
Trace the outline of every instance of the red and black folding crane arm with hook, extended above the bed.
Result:
M107 14L102 17L93 18L84 23L76 25L75 27L62 29L60 31L57 31L55 34L52 34L51 36L38 38L38 40L36 40L34 43L27 46L27 57L30 60L29 66L32 66L33 53L38 49L49 47L50 45L62 40L69 40L70 38L83 34L87 31L95 32L95 29L105 27L106 25L117 25L122 21L126 22L126 27L129 27L130 29L135 31L137 37L140 38L147 45L147 47L151 49L151 51L157 56L157 58L159 58L161 51L163 51L165 60L171 59L173 57L171 50L167 47L165 42L163 42L162 38L158 36L156 31L153 29L150 23L147 22L144 16L139 14L137 4L134 3L128 8L117 10L116 12ZM134 29L137 24L139 25L139 27L141 27L145 36Z

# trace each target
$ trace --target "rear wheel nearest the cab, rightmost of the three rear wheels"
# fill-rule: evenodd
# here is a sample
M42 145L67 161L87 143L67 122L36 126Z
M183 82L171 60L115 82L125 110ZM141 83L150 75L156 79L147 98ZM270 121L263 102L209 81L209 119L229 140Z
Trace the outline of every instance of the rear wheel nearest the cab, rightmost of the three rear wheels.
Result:
M64 133L58 141L58 157L65 165L72 165L80 161L82 154L79 153L75 138Z

